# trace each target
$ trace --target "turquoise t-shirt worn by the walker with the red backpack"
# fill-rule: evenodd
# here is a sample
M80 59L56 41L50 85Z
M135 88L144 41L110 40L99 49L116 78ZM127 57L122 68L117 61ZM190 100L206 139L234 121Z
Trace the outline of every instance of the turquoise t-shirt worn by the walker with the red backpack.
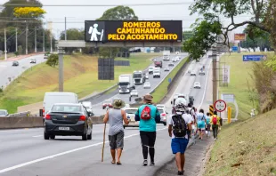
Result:
M138 108L138 111L136 112L135 116L141 116L142 109L148 106L150 108L150 116L151 118L149 120L142 120L140 119L139 123L139 129L142 132L156 132L156 121L155 118L158 116L160 117L160 113L158 111L158 108L152 104L146 104L142 105Z

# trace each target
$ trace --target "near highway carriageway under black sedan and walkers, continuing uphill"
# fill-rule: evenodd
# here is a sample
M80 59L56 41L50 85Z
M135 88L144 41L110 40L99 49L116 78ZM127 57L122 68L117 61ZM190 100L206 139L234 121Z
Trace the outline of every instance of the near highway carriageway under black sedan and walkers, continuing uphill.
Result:
M200 62L191 63L190 67L198 73L198 69L205 65L207 73L210 71L210 63L211 60L204 57ZM195 81L201 83L201 89L192 88ZM206 83L212 83L207 80L207 74L190 76L186 73L183 74L175 93L191 93L195 96L195 106L204 106L207 104ZM171 112L170 100L166 102L168 112ZM125 148L121 158L123 165L110 164L108 141L105 143L104 162L101 163L102 135L103 124L93 125L93 139L86 141L80 137L62 136L57 136L56 140L44 140L42 128L0 131L0 175L150 176L173 156L170 138L163 124L158 124L155 166L142 166L142 147L137 128L125 130ZM108 139L107 135L105 139Z

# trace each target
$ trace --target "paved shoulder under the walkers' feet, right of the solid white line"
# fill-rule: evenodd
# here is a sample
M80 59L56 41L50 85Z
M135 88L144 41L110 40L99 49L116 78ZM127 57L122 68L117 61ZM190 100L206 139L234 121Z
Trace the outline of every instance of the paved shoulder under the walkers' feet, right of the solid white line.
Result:
M142 166L142 147L139 130L125 130L125 148L121 157L123 165L110 164L109 143L105 145L104 162L101 163L101 143L90 148L84 148L75 152L70 152L61 156L49 157L41 162L28 164L24 167L16 168L2 175L113 175L119 173L125 175L153 175L158 167L166 162L168 156L172 156L167 129L158 125L155 162L156 166ZM129 135L129 133L132 134ZM102 140L102 139L101 139ZM102 142L102 141L101 141ZM124 166L124 169L122 169ZM49 169L51 168L51 169ZM2 170L0 170L1 172ZM62 171L62 172L61 172Z

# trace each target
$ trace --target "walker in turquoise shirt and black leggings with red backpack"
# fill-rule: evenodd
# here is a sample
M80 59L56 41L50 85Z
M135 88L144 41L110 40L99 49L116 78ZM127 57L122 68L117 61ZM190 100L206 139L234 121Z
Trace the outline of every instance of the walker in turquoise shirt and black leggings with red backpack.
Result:
M148 153L150 153L150 165L154 165L154 145L156 140L156 124L160 123L158 108L152 104L153 97L150 94L143 96L144 104L135 113L135 121L140 121L140 137L142 143L143 166L148 165ZM142 119L144 109L150 108L150 118Z

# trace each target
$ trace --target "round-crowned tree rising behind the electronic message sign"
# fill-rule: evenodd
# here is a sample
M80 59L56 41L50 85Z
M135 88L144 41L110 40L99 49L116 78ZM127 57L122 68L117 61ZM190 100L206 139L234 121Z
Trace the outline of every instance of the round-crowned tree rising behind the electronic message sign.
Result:
M101 18L97 20L138 20L134 10L130 7L118 5L103 12ZM102 58L115 58L120 48L102 47L99 54Z

